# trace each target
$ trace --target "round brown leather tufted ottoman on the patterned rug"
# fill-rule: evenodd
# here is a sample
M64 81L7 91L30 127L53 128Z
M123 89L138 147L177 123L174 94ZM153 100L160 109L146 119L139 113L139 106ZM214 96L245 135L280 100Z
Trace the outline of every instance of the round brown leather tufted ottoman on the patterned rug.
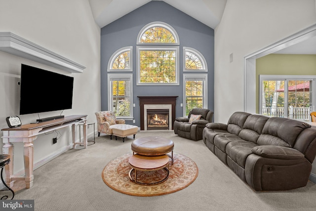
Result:
M146 156L165 155L171 152L171 161L173 164L173 148L174 143L172 140L159 137L147 136L134 140L131 149L133 153Z

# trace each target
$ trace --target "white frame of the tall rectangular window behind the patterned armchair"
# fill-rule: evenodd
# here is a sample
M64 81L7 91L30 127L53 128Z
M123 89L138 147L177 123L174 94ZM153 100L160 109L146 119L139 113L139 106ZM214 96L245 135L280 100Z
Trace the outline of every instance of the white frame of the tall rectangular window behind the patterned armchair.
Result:
M124 120L133 120L133 74L122 74L122 73L118 73L118 74L108 74L108 110L112 111L112 105L113 105L113 86L111 84L112 81L119 81L119 79L128 79L126 81L129 81L129 95L130 95L130 105L129 105L129 109L130 109L130 115L129 117L119 117L116 116L117 119L124 119Z

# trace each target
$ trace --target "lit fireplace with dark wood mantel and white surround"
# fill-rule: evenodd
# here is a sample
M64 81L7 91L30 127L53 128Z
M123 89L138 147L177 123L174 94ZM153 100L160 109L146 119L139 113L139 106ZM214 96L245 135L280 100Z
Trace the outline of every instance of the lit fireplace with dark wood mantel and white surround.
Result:
M140 129L173 129L178 96L138 96Z

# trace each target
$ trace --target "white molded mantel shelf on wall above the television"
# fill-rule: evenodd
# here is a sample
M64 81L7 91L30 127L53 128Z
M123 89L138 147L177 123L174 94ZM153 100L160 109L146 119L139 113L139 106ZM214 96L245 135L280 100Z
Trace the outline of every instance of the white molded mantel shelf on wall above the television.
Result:
M0 50L70 73L82 73L85 67L11 32L0 32Z

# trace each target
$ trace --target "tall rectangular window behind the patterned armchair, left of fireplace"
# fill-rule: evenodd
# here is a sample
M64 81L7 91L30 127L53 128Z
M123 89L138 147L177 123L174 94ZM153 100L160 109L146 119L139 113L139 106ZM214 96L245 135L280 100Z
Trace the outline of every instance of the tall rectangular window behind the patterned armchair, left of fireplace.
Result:
M108 74L108 108L115 112L117 118L133 118L132 82L132 74Z

